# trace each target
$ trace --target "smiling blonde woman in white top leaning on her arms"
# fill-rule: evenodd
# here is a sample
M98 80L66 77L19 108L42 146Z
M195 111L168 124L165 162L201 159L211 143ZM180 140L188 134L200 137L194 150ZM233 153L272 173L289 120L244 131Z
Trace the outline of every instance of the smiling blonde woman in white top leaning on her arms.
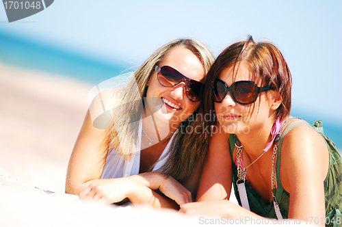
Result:
M122 90L99 94L70 157L66 192L103 204L130 200L178 209L191 202L206 145L203 135L183 129L200 126L200 91L213 60L197 40L174 40L155 51ZM91 112L103 109L104 100L112 104L107 129L96 129Z

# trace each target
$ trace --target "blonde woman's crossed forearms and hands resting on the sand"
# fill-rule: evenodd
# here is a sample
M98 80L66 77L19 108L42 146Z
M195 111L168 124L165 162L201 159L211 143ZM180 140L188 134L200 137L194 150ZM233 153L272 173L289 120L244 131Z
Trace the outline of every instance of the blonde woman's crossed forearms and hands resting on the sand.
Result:
M166 196L153 190L159 189ZM101 204L116 203L128 198L133 204L179 209L192 202L191 193L171 176L161 172L146 172L123 178L92 181L79 193L81 200L96 200Z

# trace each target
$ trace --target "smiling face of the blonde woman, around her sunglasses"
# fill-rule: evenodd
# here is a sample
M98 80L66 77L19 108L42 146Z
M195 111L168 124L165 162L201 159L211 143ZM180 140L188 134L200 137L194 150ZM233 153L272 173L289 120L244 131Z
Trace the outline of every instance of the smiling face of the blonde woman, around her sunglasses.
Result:
M205 75L200 60L184 46L172 48L158 66L171 66L185 77L196 81L201 81ZM200 102L194 103L187 98L184 82L172 88L164 87L159 83L156 71L148 82L146 103L146 112L154 114L156 120L177 126L189 118L200 105Z

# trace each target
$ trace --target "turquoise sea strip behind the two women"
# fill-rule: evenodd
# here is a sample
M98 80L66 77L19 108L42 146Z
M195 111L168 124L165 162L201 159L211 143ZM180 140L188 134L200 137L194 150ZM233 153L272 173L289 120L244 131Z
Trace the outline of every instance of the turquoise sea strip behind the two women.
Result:
M119 60L109 62L40 41L9 34L0 29L0 62L53 72L94 85L116 77L131 67ZM321 118L317 119L315 114L295 107L291 115L299 116L311 124L315 120L322 120L324 133L332 139L340 151L342 150L342 125L335 124L330 116L320 116Z

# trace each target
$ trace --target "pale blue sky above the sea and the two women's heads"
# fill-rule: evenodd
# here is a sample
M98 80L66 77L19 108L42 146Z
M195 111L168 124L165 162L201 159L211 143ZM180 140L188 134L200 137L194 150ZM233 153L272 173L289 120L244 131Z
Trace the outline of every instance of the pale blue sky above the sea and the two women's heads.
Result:
M250 34L287 59L293 111L342 126L341 12L341 1L56 0L14 23L0 6L0 29L127 67L175 38L197 38L218 55Z

